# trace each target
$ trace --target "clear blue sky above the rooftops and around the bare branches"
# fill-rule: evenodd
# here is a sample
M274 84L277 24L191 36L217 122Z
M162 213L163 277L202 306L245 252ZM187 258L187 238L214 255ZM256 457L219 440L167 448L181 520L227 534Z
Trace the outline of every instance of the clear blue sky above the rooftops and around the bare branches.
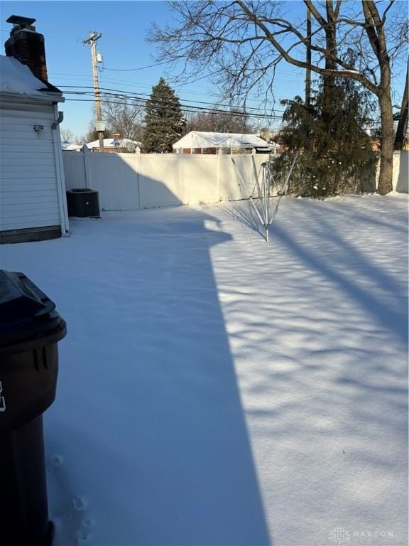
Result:
M286 9L293 15L304 12L300 1L288 1ZM12 14L36 18L36 29L45 36L48 78L65 92L70 90L67 86L92 86L91 52L89 45L82 43L90 31L102 33L97 45L103 58L99 69L101 87L148 96L161 76L170 79L175 75L175 72L168 73L163 65L143 68L156 63L155 45L146 43L149 26L153 22L163 26L172 16L164 1L3 1L0 23L3 44L11 30L6 19ZM1 54L4 54L4 47ZM134 68L138 70L130 70ZM403 77L398 78L396 85L396 102L403 90ZM302 96L304 80L303 70L287 63L280 64L274 85L276 102ZM212 104L223 100L217 96L211 77L187 85L174 85L173 82L171 85L184 105L198 106L202 105L200 101ZM61 127L83 136L92 120L93 102L73 101L69 94L65 98L65 104L60 107L65 116ZM248 106L260 107L261 100L253 95ZM282 107L278 105L277 109ZM254 122L257 126L256 120Z

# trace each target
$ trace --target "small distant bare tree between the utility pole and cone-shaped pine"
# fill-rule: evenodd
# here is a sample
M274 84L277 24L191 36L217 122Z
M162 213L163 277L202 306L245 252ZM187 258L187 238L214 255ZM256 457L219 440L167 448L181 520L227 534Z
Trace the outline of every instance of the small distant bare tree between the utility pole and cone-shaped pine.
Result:
M103 97L102 114L112 134L119 133L124 139L141 141L143 135L141 102L112 96L104 100Z

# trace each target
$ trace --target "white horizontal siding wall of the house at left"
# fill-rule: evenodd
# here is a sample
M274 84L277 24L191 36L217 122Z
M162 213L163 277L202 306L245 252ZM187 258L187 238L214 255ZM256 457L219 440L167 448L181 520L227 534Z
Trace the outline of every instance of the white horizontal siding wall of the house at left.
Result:
M1 103L0 232L61 225L53 122L51 104Z

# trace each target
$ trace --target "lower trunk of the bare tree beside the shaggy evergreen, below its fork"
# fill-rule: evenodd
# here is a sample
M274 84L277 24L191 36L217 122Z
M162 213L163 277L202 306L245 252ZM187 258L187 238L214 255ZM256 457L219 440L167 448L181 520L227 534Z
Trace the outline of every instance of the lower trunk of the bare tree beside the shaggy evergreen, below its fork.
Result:
M385 90L379 96L381 109L381 164L379 167L378 193L385 196L392 191L393 176L393 112L391 93Z

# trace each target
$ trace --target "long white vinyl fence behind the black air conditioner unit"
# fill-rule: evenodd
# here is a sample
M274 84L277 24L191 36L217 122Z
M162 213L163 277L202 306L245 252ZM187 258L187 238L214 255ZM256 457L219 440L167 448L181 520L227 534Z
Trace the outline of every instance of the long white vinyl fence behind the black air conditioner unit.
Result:
M266 154L62 153L67 190L99 192L102 210L131 210L165 205L217 203L248 198ZM234 161L234 163L233 163ZM236 168L234 167L236 165Z

